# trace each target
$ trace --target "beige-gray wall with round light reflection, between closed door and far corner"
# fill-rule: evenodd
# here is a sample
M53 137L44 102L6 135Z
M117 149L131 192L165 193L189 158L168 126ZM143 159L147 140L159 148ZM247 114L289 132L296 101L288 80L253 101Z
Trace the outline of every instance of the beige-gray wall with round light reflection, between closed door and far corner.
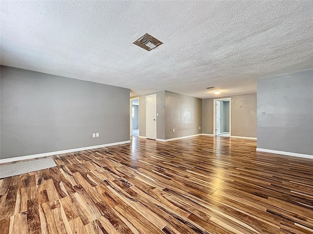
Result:
M165 139L201 134L201 119L200 98L165 91Z

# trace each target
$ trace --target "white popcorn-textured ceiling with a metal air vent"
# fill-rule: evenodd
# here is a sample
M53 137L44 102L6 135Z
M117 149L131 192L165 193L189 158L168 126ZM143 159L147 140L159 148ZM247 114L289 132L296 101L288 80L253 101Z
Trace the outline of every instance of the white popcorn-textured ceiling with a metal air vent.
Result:
M1 64L199 98L313 67L313 1L1 1ZM145 33L164 44L133 44ZM214 90L205 87L215 86Z

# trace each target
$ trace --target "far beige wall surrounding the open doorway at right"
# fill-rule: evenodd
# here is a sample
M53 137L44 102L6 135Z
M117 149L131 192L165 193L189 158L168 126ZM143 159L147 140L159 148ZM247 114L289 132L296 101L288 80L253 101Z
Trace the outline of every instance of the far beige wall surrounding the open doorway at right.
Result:
M256 137L256 94L221 98L231 98L231 136ZM213 134L213 99L216 98L202 100L202 133L204 134Z

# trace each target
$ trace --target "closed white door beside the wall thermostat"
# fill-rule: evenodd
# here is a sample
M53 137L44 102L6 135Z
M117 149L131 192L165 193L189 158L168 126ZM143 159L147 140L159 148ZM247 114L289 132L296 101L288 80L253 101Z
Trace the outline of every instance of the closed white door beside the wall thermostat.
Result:
M156 95L146 96L146 137L156 139Z

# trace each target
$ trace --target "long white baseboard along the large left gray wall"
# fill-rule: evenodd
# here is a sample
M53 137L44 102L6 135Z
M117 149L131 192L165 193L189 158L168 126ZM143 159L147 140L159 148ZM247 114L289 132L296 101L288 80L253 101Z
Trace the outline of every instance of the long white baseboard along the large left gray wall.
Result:
M109 144L104 144L104 145L93 145L93 146L88 146L88 147L69 149L69 150L60 150L60 151L55 151L55 152L43 153L43 154L3 158L3 159L0 159L0 163L15 162L15 161L32 159L32 158L37 158L37 157L46 157L46 156L52 156L52 155L66 154L66 153L72 153L72 152L77 152L77 151L82 151L82 150L91 150L91 149L97 149L97 148L108 147L112 145L126 144L126 143L131 143L131 141L126 140L126 141L114 142L114 143L109 143Z

